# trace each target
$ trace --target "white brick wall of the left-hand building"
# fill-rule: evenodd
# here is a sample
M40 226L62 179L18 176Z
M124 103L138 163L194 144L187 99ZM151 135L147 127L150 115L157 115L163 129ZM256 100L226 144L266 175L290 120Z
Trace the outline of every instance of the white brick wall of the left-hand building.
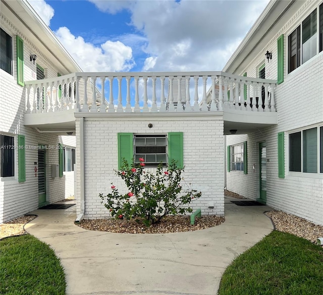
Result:
M57 145L60 136L38 133L24 126L26 89L17 84L16 74L16 35L24 40L24 79L35 80L36 63L46 72L46 78L56 77L58 69L51 64L45 55L22 35L19 28L11 24L5 16L1 17L1 28L12 36L13 44L13 75L0 69L0 133L15 136L25 135L26 145ZM29 60L31 53L37 54L35 64ZM65 176L51 178L51 164L58 165L59 151L46 150L46 198L49 203L64 199ZM38 174L35 177L34 168L38 168L37 150L26 150L26 181L18 182L18 153L15 153L15 177L2 178L0 181L0 223L6 222L22 214L38 208ZM36 165L34 163L37 163Z

